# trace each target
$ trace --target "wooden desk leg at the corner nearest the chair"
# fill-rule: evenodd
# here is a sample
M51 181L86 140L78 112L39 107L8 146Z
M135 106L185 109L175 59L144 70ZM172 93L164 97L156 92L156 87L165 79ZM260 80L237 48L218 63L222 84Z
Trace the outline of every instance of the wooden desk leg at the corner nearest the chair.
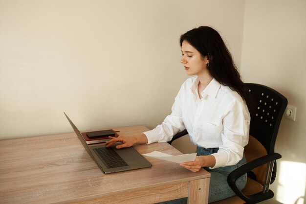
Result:
M189 181L187 204L207 204L209 178Z

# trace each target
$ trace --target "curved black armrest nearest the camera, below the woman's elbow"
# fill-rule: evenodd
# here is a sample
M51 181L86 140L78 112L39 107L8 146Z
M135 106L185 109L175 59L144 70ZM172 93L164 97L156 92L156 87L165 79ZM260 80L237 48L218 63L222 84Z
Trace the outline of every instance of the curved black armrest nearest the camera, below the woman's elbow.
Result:
M254 159L250 162L247 162L246 164L240 166L239 168L232 171L228 177L227 177L227 183L231 187L231 189L236 193L237 196L240 197L243 201L245 201L248 204L255 204L262 202L266 199L273 198L274 193L271 190L268 190L267 192L259 192L253 195L246 196L244 195L236 186L236 180L241 177L242 175L246 174L247 172L263 165L266 163L269 163L270 161L274 161L276 159L280 159L282 156L278 153L273 153L269 155L265 155L263 157L260 157L258 159Z

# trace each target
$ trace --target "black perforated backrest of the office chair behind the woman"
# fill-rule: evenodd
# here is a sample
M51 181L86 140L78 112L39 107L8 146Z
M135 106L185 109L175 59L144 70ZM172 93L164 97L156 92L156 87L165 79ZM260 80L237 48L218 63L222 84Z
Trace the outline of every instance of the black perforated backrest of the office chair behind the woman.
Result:
M287 107L287 99L279 92L260 85L245 83L250 94L251 124L250 140L245 147L246 159L253 160L266 154L274 153L274 146L280 123ZM255 156L257 155L257 156ZM257 181L263 182L265 166L253 170ZM276 164L273 168L271 183L275 180Z

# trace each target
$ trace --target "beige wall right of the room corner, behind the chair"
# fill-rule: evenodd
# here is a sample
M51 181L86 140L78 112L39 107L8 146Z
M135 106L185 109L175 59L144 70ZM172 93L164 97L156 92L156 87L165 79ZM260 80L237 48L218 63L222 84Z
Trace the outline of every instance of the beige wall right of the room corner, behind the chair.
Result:
M266 204L305 204L306 0L246 0L241 71L244 81L265 84L297 108L283 117L275 151L278 177Z

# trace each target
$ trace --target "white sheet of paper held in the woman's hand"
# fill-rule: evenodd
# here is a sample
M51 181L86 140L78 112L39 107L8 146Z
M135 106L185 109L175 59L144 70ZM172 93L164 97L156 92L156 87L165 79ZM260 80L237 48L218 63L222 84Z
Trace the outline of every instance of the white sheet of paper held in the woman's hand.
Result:
M194 161L196 159L197 153L173 156L162 152L153 151L151 153L143 154L143 156L148 156L155 159L162 159L166 161L172 161L175 163L183 163L185 161Z

